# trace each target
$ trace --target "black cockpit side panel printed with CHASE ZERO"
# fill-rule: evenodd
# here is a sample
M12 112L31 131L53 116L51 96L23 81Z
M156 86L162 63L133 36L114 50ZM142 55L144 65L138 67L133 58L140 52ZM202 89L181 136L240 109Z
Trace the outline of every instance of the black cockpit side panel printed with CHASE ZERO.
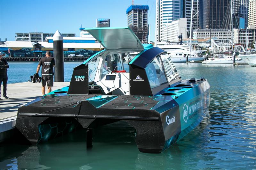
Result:
M89 94L88 65L81 64L74 68L68 94Z

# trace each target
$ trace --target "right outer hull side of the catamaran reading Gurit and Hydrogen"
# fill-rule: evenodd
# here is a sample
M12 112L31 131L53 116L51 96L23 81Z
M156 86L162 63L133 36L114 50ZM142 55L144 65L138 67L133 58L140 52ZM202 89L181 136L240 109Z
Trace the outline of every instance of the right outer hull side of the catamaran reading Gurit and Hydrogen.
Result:
M204 119L208 111L210 104L210 85L207 81L195 86L190 92L183 95L187 95L186 101L176 99L179 106L172 108L169 114L161 114L166 139L163 150L170 147L194 129ZM175 119L173 116L175 116ZM177 121L179 121L179 125L177 125ZM180 128L180 131L177 128Z

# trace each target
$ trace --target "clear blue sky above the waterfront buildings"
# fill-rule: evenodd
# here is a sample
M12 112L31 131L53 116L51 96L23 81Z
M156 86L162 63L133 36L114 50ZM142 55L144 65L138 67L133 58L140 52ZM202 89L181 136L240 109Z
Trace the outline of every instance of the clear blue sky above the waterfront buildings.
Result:
M76 33L79 27L96 27L97 18L110 26L127 26L126 9L132 0L0 0L0 38L15 41L15 33ZM155 39L156 0L134 0L148 5L150 41Z

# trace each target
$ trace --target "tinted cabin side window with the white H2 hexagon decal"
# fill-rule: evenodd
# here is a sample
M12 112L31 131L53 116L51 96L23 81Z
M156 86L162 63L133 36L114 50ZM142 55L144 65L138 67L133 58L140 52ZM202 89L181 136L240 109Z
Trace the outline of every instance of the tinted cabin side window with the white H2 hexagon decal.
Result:
M151 88L167 83L164 67L159 56L152 60L145 70Z

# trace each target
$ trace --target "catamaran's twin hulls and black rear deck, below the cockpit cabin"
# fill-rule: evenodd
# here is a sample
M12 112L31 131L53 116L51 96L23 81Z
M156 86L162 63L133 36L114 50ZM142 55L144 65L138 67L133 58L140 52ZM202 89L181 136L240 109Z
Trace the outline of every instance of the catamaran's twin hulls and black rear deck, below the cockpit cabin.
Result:
M179 86L180 84L187 86ZM188 80L182 80L176 85L179 87L173 85L174 87L162 91L172 92L172 95L56 93L43 96L19 108L16 127L31 143L37 143L45 137L39 133L39 125L54 124L56 120L75 121L83 128L124 120L136 129L135 141L141 152L160 153L177 141L181 137L180 134L186 130L189 132L189 128L193 128L202 120L210 102L210 86L207 81L188 83ZM172 91L174 88L176 91ZM188 110L190 117L185 119L187 122L183 122L182 107L185 104L188 109L195 110L191 111L191 114Z

